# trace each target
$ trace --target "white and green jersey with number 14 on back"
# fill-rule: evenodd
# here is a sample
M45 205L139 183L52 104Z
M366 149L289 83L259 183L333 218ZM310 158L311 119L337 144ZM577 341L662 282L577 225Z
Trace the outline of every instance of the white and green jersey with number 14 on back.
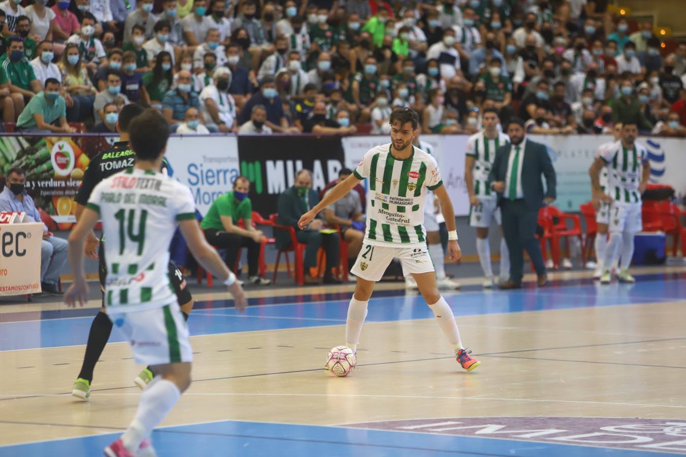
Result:
M107 238L105 307L141 311L176 301L169 243L178 221L196 218L191 190L163 173L130 168L99 182L86 206L99 213Z

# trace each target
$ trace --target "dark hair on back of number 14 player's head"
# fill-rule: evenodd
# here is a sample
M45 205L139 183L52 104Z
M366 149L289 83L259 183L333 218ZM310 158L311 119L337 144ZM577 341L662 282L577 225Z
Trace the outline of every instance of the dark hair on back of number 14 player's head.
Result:
M129 125L131 148L141 160L156 160L167 147L169 123L154 108L134 117Z

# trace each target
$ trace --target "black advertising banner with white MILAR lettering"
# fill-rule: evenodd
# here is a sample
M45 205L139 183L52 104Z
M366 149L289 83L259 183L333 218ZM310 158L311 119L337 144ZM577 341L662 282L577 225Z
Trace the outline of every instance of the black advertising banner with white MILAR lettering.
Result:
M239 136L238 158L251 183L252 208L263 217L276 212L279 194L301 169L312 172L312 188L319 191L338 179L344 164L339 136Z

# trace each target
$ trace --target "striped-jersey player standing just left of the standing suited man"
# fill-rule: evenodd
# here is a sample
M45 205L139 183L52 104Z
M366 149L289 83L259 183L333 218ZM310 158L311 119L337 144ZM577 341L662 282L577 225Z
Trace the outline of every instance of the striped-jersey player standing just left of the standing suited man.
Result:
M484 271L484 288L495 286L493 267L490 264L488 228L495 221L502 232L498 197L488 186L488 173L495 160L495 151L510 143L510 137L500 132L498 110L486 108L482 114L482 132L473 134L467 140L464 159L464 181L469 192L469 225L476 228L476 251ZM510 251L505 237L500 239L500 281L510 277Z

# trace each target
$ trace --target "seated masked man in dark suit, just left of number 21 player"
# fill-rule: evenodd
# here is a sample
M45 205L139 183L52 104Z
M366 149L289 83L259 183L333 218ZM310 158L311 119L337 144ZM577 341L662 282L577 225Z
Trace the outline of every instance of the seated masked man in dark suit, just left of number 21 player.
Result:
M324 272L324 283L340 284L341 281L332 272L333 268L338 267L338 233L320 233L324 224L319 217L309 224L307 230L298 228L300 216L319 203L319 195L317 195L316 190L312 190L312 175L309 170L298 171L294 184L279 195L279 203L277 203L279 219L276 219L276 223L294 227L298 242L307 245L305 259L303 260L306 284L318 284L320 282L315 273L317 252L320 246L324 247L324 251L327 253L327 270ZM291 238L285 230L274 230L274 238L278 249L283 249L291 244Z

